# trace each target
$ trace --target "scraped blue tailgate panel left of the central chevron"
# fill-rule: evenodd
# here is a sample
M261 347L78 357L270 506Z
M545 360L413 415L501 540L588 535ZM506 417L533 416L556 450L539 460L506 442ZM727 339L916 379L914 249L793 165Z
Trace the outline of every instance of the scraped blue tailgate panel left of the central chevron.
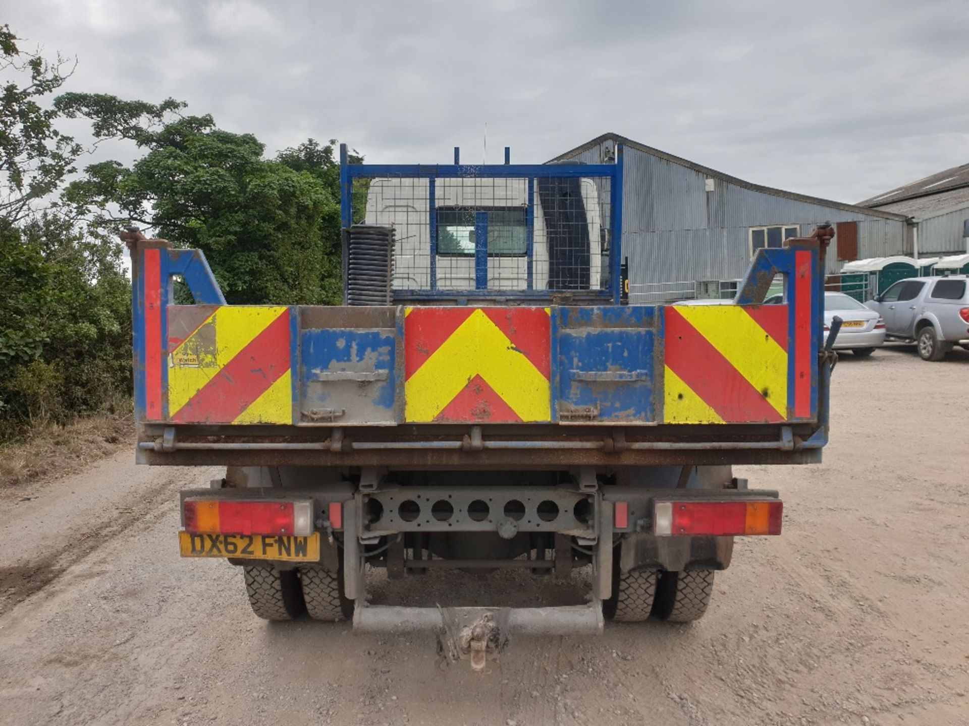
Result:
M394 423L395 363L392 328L301 331L300 423Z

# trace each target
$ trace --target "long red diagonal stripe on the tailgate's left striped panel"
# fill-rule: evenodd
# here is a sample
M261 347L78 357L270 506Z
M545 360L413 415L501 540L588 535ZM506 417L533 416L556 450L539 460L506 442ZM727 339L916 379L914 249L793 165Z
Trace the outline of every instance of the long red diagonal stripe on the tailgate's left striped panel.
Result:
M172 416L175 423L232 423L290 370L288 310L257 335Z

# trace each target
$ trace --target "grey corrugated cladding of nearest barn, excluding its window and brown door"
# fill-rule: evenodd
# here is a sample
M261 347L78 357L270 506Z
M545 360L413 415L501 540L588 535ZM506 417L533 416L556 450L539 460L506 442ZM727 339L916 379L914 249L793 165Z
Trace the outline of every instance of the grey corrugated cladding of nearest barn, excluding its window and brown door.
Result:
M573 158L603 164L613 154L614 143L606 140ZM860 257L904 251L906 225L901 220L765 194L629 146L623 164L622 255L629 258L634 303L662 299L645 297L648 286L741 277L750 262L750 227L796 225L808 234L822 222L858 222ZM840 268L835 248L826 272ZM681 297L681 290L668 296Z

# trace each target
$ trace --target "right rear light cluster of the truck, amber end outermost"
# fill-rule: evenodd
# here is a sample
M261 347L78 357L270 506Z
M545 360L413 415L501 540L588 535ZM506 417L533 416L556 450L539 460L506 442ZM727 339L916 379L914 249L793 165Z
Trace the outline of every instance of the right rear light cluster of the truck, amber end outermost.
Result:
M784 503L780 499L745 501L662 501L653 504L657 536L740 536L780 534Z

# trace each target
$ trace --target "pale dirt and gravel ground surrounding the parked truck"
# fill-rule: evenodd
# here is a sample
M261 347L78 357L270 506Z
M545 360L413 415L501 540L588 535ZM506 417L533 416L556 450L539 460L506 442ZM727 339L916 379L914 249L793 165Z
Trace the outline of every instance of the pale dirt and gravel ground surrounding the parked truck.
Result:
M844 356L825 464L738 472L785 531L738 540L706 618L519 639L485 675L253 617L237 569L176 555L176 492L215 470L126 452L2 492L0 723L969 724L967 400L969 353ZM557 596L525 579L495 589Z

